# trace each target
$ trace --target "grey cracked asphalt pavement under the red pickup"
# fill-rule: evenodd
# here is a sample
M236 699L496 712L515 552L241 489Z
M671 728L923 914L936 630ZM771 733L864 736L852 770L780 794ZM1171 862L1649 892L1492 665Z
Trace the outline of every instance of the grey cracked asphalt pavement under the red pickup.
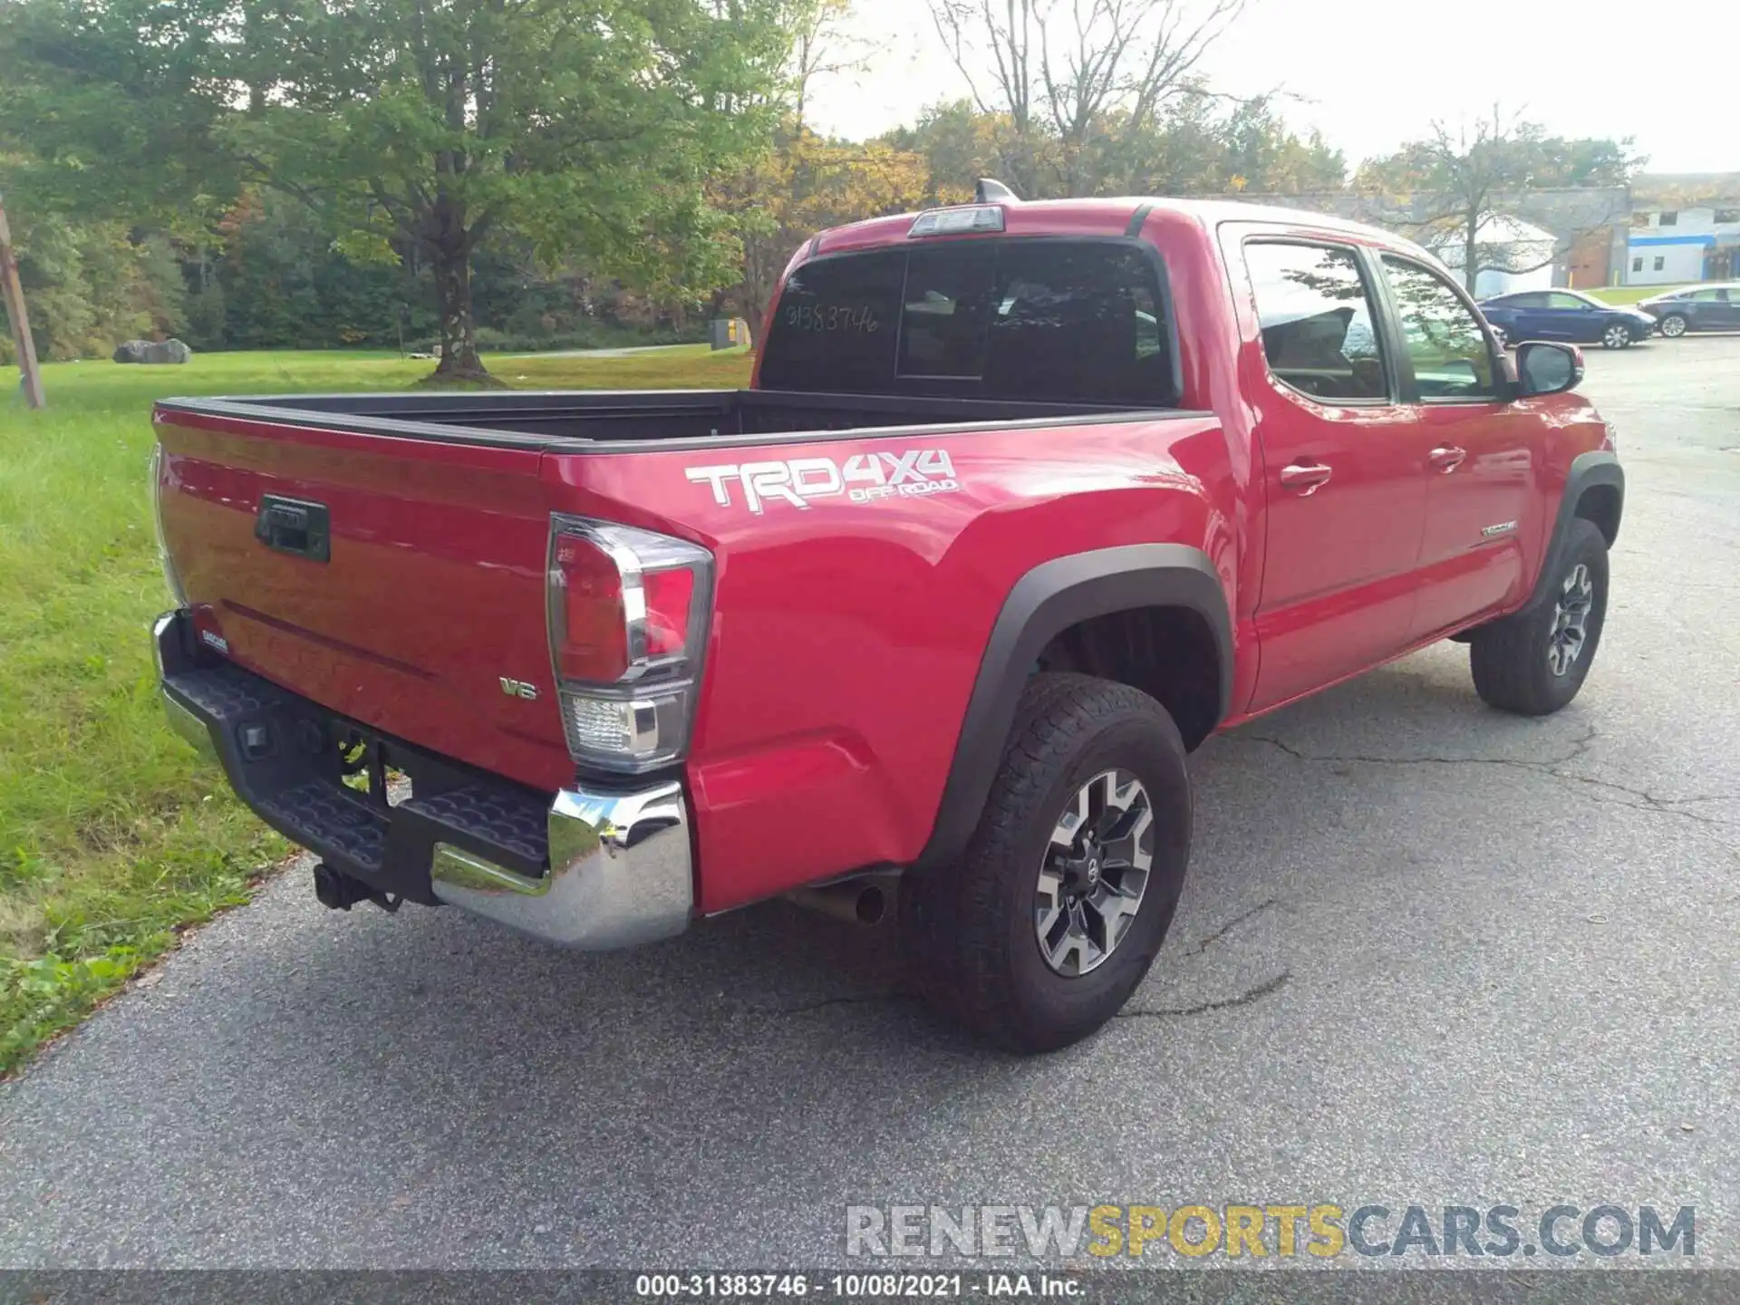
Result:
M821 1265L846 1204L1101 1201L1693 1204L1740 1263L1740 336L1585 388L1582 698L1489 712L1441 644L1211 741L1091 1042L974 1049L785 905L586 957L287 873L0 1086L0 1263Z

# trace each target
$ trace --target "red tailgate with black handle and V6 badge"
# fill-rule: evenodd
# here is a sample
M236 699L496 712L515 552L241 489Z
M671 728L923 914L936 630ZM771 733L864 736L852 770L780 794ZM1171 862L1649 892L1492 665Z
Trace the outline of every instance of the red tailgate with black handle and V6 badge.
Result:
M158 411L164 541L198 635L381 733L571 776L536 447Z

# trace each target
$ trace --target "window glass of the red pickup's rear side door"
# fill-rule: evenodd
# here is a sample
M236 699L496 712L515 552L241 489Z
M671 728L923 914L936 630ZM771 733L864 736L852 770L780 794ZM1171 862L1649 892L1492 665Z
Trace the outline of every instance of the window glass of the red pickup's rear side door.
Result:
M1277 381L1329 404L1389 398L1371 294L1352 251L1249 242L1244 263Z

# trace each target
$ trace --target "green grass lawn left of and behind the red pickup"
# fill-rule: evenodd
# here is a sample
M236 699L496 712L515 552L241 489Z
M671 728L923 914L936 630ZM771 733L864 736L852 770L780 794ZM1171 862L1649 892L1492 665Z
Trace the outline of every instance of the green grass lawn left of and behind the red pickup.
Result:
M748 355L496 369L522 388L712 388L745 383ZM52 364L49 407L30 412L0 367L0 1075L289 851L164 726L146 639L169 606L146 501L151 400L397 390L428 371L338 351Z

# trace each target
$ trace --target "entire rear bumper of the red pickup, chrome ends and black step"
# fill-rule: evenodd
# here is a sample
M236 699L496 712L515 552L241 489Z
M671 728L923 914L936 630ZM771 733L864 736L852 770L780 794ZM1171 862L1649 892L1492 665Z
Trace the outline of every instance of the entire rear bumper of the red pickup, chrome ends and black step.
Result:
M151 647L171 729L223 766L261 820L371 889L581 950L687 927L694 867L677 781L552 799L207 656L183 612L157 619ZM345 741L360 748L351 767ZM411 780L411 797L388 799L388 769ZM367 792L355 786L364 774Z

